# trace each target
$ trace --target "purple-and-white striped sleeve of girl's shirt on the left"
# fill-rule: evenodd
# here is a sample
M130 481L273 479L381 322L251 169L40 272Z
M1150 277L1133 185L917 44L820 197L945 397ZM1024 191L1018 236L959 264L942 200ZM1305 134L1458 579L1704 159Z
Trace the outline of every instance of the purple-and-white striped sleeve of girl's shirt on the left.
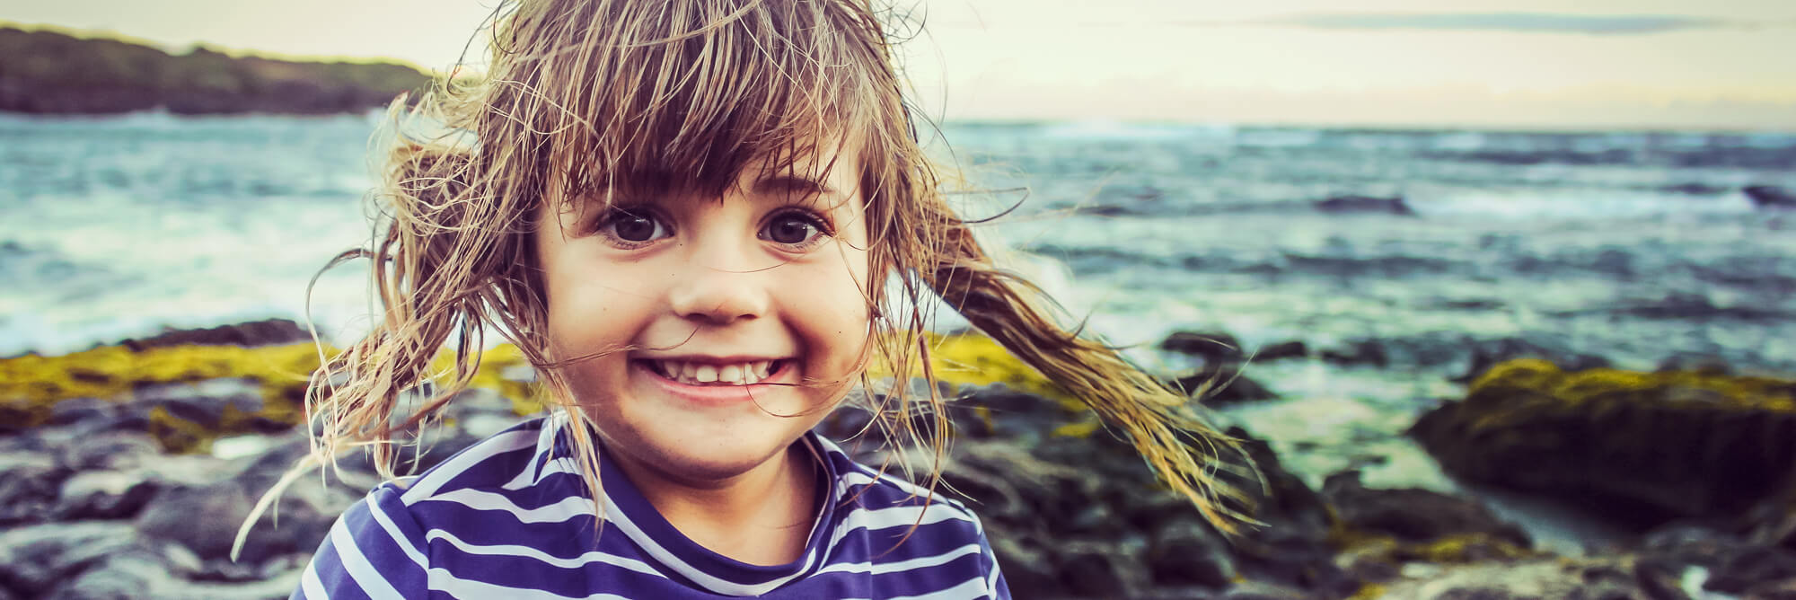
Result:
M424 530L399 490L381 485L330 526L291 598L422 598L427 569Z

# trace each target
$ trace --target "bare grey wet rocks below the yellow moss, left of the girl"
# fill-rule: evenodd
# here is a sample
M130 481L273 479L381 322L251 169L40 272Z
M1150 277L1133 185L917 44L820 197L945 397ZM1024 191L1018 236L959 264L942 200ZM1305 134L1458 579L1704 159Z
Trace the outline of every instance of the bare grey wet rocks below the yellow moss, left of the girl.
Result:
M458 415L496 417L478 406ZM147 431L74 435L83 426L0 437L0 598L286 598L338 514L377 483L352 456L329 487L295 485L278 526L264 516L232 560L239 525L305 453L304 433L259 435L262 451L216 458L167 454ZM476 440L435 438L427 463Z

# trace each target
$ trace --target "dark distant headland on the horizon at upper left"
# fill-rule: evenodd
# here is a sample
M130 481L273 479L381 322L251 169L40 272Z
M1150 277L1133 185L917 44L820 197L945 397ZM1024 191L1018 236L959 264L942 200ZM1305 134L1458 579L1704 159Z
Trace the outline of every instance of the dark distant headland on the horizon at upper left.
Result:
M0 111L178 115L363 111L431 75L402 63L325 63L187 54L122 40L0 27Z

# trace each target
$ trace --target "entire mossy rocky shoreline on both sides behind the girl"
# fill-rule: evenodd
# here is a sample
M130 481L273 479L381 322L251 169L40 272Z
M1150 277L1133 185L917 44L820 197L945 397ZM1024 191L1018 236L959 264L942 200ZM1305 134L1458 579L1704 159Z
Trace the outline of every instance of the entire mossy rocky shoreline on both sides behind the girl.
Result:
M329 485L296 483L278 525L264 517L228 559L255 499L305 451L295 401L316 352L298 336L264 322L0 359L0 600L284 598L334 517L375 483L366 460L345 460ZM1248 383L1234 377L1237 345L1200 341L1211 338L1169 338L1205 366L1167 379L1227 379L1209 388L1272 401L1234 390ZM1478 354L1466 399L1419 415L1412 435L1467 481L1627 510L1636 535L1573 557L1478 498L1376 489L1354 471L1311 487L1241 428L1228 433L1261 478L1223 476L1264 526L1223 535L990 340L941 349L979 366L948 374L961 399L943 476L984 519L1018 598L1796 598L1787 379ZM1284 354L1311 352L1255 359ZM515 350L483 365L418 469L541 408ZM844 408L819 428L842 438L864 419Z

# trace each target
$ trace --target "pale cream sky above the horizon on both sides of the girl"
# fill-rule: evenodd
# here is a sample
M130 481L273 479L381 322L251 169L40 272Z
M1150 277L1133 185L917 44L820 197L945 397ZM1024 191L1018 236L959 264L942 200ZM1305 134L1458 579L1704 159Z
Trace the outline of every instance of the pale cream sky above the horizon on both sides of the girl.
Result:
M445 68L490 5L0 0L0 20ZM948 119L1796 129L1791 0L916 5L909 74Z

